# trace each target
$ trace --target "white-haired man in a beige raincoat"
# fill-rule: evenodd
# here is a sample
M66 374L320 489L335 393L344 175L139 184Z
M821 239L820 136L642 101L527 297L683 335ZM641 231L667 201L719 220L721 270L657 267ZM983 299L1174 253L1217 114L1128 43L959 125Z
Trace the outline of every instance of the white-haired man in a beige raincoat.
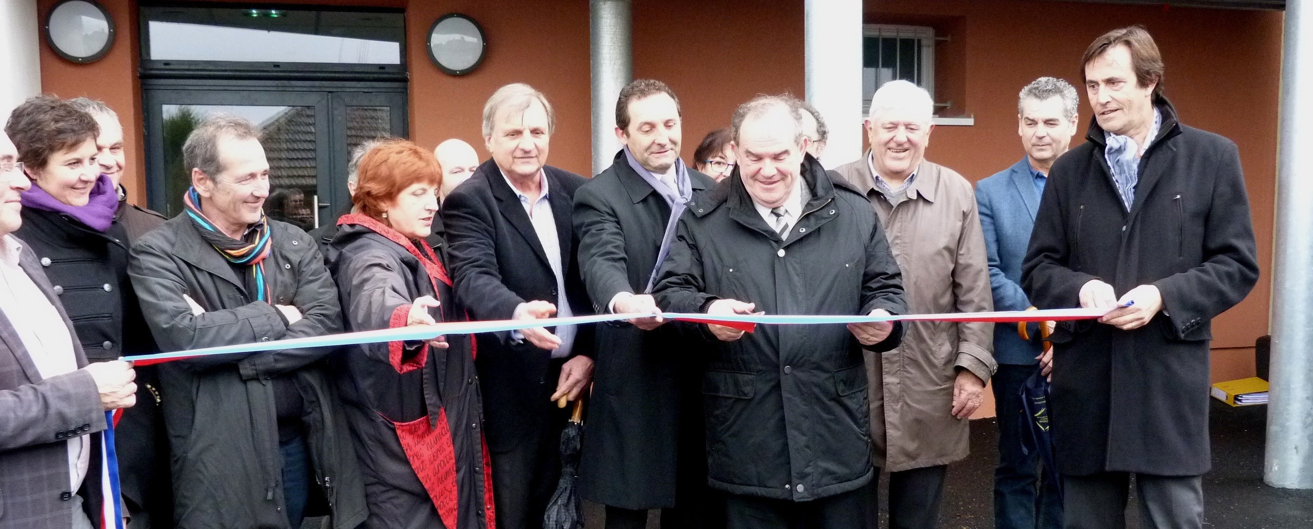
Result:
M907 81L876 90L871 151L836 172L871 199L903 270L907 309L993 310L972 185L926 161L934 101ZM966 457L968 419L994 374L990 323L907 323L902 346L867 355L876 466L890 473L889 525L936 526L948 464Z

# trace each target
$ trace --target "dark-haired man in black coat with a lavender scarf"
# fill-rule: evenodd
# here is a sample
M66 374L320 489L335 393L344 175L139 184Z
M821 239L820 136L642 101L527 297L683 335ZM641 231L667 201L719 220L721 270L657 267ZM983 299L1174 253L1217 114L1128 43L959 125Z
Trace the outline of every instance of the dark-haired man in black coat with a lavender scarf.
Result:
M679 160L680 110L664 82L620 90L616 162L575 192L579 263L597 312L655 313L651 288L684 206L716 181ZM597 326L597 371L580 457L583 498L607 528L718 526L706 490L700 348L676 325L638 318Z

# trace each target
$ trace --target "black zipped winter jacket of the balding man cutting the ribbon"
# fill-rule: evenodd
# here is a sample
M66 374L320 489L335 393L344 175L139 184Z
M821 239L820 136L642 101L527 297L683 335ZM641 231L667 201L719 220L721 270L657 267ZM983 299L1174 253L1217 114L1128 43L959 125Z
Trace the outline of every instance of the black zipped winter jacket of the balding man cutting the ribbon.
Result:
M738 170L695 199L655 288L666 310L705 312L716 299L767 314L905 313L898 263L865 196L806 156L811 199L786 241L762 219ZM794 502L874 478L861 346L843 325L763 325L716 344L702 377L708 482ZM898 346L902 326L873 346Z

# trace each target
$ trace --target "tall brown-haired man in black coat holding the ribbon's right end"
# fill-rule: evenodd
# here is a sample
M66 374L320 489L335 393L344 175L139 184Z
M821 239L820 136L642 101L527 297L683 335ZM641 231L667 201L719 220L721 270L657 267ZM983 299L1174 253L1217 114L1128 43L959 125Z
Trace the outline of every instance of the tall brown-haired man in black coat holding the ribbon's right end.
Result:
M1145 526L1200 528L1209 322L1258 280L1239 153L1178 122L1142 27L1083 64L1095 119L1053 165L1023 287L1041 309L1130 305L1050 338L1066 526L1123 526L1136 474Z

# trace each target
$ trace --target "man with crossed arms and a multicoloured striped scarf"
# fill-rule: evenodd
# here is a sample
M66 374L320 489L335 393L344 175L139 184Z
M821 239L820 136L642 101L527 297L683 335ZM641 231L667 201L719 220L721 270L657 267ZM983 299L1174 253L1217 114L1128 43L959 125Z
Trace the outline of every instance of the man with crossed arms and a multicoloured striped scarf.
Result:
M185 211L142 237L129 274L163 351L341 331L337 288L306 232L267 219L260 131L217 114L183 145ZM365 521L364 482L328 348L159 364L179 528ZM240 505L240 508L234 508Z

